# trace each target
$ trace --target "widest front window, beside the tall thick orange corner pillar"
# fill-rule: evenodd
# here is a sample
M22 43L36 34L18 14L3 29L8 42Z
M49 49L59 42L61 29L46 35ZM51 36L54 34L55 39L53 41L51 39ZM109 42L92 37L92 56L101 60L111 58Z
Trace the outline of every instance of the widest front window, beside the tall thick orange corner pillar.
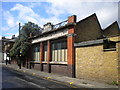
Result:
M53 41L51 47L52 61L66 62L67 61L67 41Z

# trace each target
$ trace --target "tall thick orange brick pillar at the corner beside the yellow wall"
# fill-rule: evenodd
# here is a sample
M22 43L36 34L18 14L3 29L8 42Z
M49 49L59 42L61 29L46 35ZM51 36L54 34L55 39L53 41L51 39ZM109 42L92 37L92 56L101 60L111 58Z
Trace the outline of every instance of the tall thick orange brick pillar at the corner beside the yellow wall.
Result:
M68 23L76 23L76 16L68 17ZM74 48L74 33L75 26L71 25L68 27L68 37L67 37L67 62L68 71L70 72L70 77L75 77L75 48Z

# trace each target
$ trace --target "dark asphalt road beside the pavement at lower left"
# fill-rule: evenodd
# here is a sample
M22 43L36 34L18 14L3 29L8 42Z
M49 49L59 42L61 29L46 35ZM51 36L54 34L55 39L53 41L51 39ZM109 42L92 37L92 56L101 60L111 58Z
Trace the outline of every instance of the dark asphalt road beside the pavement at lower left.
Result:
M0 67L1 68L1 67ZM6 67L2 67L2 89L37 89L39 90L56 90L56 89L72 89L70 86L56 83L53 81L38 78L32 75L26 75Z

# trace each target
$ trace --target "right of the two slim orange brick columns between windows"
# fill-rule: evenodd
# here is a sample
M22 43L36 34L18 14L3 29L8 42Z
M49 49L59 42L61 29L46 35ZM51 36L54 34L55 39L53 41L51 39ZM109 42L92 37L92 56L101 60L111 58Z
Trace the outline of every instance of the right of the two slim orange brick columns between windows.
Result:
M50 61L51 61L51 43L50 41L47 42L47 64L48 64L48 72L51 72L51 66L50 66Z

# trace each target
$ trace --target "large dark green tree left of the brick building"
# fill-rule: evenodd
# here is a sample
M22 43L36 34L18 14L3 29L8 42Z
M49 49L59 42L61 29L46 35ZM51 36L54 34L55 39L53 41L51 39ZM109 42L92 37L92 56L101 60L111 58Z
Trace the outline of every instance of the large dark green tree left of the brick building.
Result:
M10 50L11 57L20 58L20 56L27 57L29 55L31 46L29 42L30 33L32 33L32 36L40 34L40 27L32 22L28 22L22 27L20 35Z

